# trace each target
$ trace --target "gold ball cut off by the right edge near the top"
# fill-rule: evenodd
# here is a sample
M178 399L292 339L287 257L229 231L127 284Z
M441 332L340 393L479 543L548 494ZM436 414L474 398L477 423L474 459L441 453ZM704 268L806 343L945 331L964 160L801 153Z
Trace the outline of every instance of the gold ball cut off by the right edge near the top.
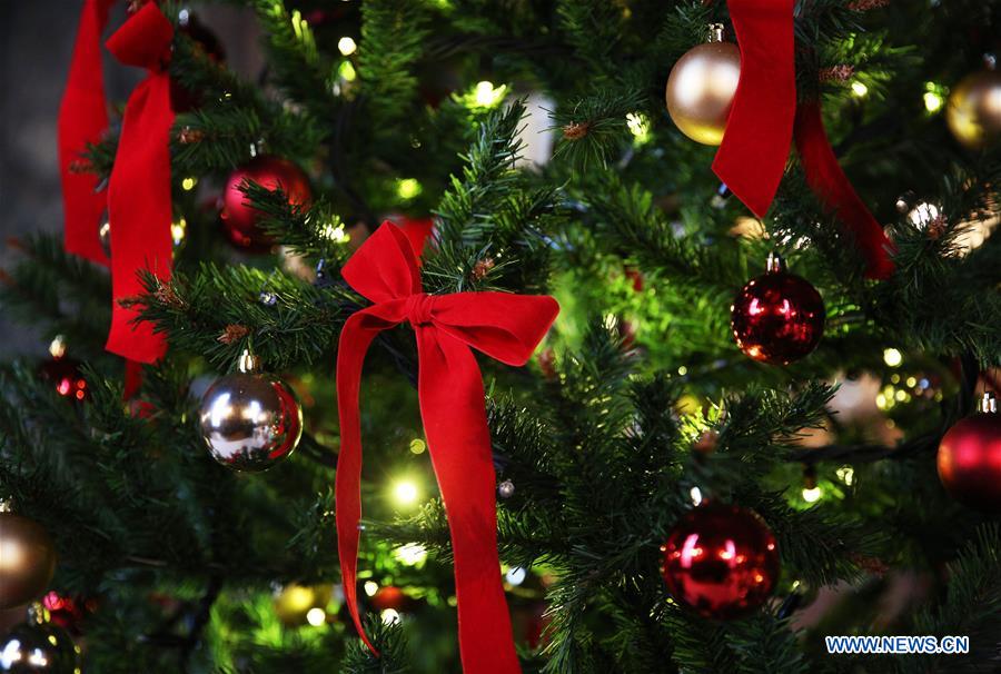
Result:
M945 120L958 141L979 150L1001 137L1001 72L964 77L949 96Z

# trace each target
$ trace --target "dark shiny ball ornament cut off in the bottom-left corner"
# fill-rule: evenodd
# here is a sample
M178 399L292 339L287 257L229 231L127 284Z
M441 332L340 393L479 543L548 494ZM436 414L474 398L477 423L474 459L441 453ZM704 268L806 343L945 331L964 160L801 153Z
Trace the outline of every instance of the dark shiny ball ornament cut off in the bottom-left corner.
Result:
M27 622L0 638L0 672L77 674L79 667L80 648L65 630L47 620L40 604L28 611Z

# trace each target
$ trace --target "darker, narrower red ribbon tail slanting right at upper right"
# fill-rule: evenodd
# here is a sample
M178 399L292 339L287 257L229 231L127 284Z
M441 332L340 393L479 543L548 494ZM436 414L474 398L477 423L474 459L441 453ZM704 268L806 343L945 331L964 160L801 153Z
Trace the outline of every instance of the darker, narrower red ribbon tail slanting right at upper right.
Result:
M806 182L854 240L865 259L865 277L888 278L893 274L893 244L841 170L824 131L819 101L800 106L795 137Z

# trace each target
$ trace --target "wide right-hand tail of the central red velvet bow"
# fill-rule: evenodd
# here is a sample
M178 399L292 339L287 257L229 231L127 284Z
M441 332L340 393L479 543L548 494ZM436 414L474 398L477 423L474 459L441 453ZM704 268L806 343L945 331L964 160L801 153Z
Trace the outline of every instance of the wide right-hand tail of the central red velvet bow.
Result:
M459 652L466 674L521 672L497 557L496 476L483 379L468 346L417 328L418 394L455 556Z

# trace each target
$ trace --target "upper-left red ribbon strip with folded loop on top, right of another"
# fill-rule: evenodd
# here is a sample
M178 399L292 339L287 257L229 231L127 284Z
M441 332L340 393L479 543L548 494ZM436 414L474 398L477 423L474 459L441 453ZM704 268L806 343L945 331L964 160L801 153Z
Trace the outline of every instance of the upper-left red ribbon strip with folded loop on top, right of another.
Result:
M167 349L163 335L149 323L136 323L136 307L119 303L143 291L139 271L170 278L170 59L174 26L150 2L112 34L108 50L127 66L148 75L126 105L115 168L108 186L111 239L111 333L106 348L139 363L155 363Z

